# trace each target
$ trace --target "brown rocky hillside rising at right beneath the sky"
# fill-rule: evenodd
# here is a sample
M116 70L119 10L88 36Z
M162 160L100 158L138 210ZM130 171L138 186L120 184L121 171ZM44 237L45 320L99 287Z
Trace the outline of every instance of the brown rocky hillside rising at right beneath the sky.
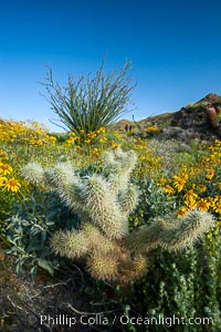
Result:
M149 116L139 122L123 120L116 123L114 128L125 132L130 127L139 132L145 131L147 126L158 126L161 133L182 131L182 134L191 132L199 138L221 138L221 96L210 93L177 112Z

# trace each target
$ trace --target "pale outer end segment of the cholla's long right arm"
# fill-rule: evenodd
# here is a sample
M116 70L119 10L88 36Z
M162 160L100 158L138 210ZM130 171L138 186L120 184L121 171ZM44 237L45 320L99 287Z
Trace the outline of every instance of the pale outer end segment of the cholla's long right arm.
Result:
M193 243L214 226L214 218L208 211L191 210L172 221L171 229L160 235L160 246L170 251L177 251Z

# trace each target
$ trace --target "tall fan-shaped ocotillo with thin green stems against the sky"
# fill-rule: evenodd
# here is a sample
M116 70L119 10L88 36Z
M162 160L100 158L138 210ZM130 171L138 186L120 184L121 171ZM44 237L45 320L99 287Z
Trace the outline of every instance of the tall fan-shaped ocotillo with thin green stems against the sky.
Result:
M49 71L45 83L52 110L59 115L65 128L80 135L84 131L85 139L90 132L96 132L107 126L123 115L129 103L130 80L127 73L130 62L125 62L123 69L104 72L104 61L95 76L91 74L80 79L69 75L67 86L62 89L54 82L52 70Z

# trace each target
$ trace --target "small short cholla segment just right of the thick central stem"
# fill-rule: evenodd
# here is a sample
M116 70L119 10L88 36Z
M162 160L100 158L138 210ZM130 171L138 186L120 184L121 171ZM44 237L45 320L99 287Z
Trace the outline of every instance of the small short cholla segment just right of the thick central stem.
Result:
M128 188L119 194L119 205L126 216L128 216L137 206L138 197L139 193L133 184L129 184Z

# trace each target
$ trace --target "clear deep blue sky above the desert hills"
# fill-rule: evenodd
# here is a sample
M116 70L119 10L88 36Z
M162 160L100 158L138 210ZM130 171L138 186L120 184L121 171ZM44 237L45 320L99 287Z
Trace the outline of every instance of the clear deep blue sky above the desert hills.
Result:
M46 65L65 84L133 60L139 120L221 94L220 0L0 1L0 117L54 118L40 93ZM134 106L131 106L134 107ZM49 125L51 126L51 125Z

